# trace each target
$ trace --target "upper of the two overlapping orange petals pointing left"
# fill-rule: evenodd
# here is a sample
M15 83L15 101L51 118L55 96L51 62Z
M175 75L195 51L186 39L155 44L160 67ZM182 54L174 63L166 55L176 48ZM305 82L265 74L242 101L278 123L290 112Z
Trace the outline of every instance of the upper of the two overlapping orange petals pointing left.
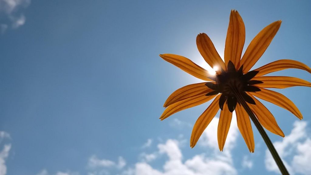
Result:
M206 82L189 84L187 86L181 87L174 91L165 101L163 107L167 107L173 103L179 102L181 100L194 97L201 94L207 94L213 90L205 85Z

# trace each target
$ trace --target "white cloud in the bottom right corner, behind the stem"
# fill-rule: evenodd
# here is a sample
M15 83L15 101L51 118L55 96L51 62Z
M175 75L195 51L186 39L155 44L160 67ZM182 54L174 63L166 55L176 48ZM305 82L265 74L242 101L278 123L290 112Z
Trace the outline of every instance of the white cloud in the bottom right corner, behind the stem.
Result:
M307 136L306 126L307 123L304 121L295 121L290 135L285 136L282 141L273 143L290 174L307 175L311 172L309 165L311 140ZM292 160L288 160L291 157ZM266 150L265 165L268 171L280 173L268 150Z

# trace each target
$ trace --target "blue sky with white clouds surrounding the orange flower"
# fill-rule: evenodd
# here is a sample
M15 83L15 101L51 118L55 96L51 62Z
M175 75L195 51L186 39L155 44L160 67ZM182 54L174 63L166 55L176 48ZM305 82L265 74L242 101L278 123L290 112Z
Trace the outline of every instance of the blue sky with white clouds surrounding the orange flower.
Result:
M244 51L263 27L283 21L254 68L278 59L311 66L310 8L310 1L0 0L0 175L276 174L258 131L253 126L251 154L235 120L223 152L217 117L189 147L209 102L158 119L170 93L200 82L158 55L183 55L206 68L197 34L207 33L223 57L236 9ZM271 75L311 81L303 70ZM304 119L263 102L285 138L268 135L292 174L308 174L310 89L276 91Z

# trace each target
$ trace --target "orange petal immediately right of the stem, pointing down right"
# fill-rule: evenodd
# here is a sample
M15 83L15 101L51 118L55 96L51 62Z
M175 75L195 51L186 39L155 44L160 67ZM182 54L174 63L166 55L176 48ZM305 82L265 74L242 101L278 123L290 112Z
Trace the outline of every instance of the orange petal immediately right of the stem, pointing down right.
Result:
M267 130L269 130L270 132L284 137L283 131L281 130L279 125L277 125L274 116L266 108L266 106L264 106L261 102L259 102L259 100L253 97L253 95L251 94L248 94L248 95L252 97L256 103L256 105L250 104L249 107L251 108L253 113L257 116L261 125L265 127Z

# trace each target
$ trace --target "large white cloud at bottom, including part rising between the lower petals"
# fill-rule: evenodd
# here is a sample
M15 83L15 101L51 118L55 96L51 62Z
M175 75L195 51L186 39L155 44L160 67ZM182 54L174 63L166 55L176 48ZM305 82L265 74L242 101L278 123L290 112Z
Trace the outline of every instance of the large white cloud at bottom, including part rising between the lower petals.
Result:
M219 118L215 117L203 132L198 144L204 149L211 149L211 154L198 154L183 161L180 149L181 141L168 139L164 144L158 144L158 151L150 155L155 158L166 155L168 160L163 169L153 168L148 161L138 162L133 168L129 168L122 175L236 175L237 170L233 166L231 150L234 148L237 138L237 124L235 115L232 117L230 130L227 136L226 146L223 152L219 151L217 142L217 126ZM146 154L143 154L145 157ZM154 160L154 159L152 159Z

